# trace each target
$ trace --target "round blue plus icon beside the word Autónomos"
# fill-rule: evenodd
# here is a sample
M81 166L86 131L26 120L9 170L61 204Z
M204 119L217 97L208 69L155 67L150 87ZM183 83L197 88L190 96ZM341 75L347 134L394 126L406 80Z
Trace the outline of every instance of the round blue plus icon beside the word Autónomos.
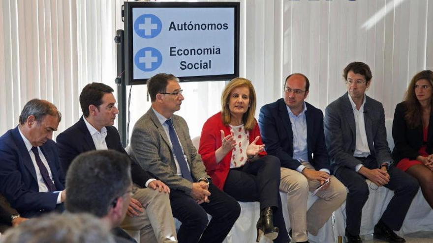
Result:
M153 14L143 14L135 20L134 30L140 37L150 39L162 29L161 20Z

